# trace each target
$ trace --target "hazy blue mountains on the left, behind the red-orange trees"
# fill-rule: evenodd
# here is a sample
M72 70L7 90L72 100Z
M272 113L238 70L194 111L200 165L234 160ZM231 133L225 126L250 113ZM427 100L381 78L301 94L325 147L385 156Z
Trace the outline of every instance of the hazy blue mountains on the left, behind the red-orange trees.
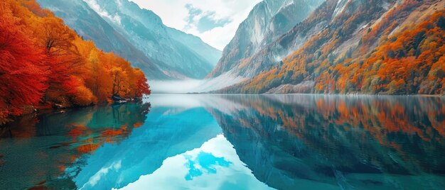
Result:
M131 1L38 2L98 47L117 52L141 67L149 79L200 79L220 57L219 50L200 38L168 28L155 13ZM146 65L156 67L145 68ZM159 74L153 74L151 69Z

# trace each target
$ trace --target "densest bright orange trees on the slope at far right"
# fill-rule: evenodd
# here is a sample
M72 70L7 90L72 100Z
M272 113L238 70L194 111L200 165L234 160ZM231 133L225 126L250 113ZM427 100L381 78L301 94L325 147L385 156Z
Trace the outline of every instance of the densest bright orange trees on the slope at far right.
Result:
M375 89L384 94L444 94L445 28L439 22L445 11L434 13L412 30L382 41L353 77L363 92ZM376 76L374 83L368 77Z

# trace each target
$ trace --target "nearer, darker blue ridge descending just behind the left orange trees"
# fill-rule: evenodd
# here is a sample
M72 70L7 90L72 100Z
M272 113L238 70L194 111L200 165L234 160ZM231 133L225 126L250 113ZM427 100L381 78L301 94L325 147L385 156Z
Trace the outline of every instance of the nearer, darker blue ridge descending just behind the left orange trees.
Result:
M84 1L50 1L38 0L43 8L50 9L56 16L63 18L65 24L73 28L82 38L94 40L97 47L105 52L116 52L118 55L139 67L149 78L168 78L154 62L146 57L123 35L90 9Z

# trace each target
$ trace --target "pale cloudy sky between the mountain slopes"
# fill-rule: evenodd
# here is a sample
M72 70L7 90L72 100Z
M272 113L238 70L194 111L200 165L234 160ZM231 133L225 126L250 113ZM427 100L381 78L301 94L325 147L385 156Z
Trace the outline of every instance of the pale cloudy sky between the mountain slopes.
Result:
M232 40L261 0L131 0L161 17L171 28L191 33L218 50Z

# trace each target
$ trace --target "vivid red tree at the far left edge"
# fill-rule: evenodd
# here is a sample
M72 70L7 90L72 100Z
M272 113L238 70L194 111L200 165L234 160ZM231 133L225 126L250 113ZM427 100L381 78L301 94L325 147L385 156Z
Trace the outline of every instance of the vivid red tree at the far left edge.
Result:
M47 87L43 50L29 36L11 5L0 2L0 125L38 104Z

